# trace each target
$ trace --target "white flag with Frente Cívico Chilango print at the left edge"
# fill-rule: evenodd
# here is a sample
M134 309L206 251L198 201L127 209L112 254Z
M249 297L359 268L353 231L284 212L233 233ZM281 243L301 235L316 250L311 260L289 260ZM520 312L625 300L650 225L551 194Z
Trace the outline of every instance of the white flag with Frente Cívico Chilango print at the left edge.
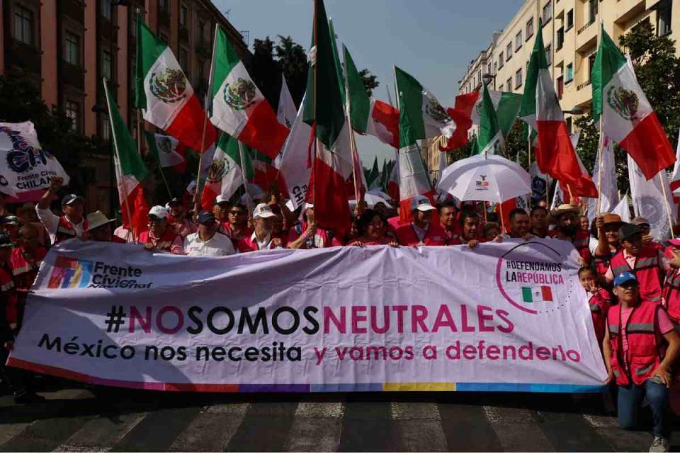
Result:
M33 122L0 122L0 192L16 197L47 189L57 176L69 184L57 158L40 147Z

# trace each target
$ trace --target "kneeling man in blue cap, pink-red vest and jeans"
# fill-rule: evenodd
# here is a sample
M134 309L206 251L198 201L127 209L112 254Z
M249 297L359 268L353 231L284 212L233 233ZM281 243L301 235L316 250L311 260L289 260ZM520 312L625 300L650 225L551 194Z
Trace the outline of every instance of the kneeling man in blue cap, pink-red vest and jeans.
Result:
M620 273L613 282L618 304L607 314L602 350L606 382L616 381L618 386L618 422L626 430L635 428L642 396L646 396L654 420L650 452L667 452L671 431L668 387L680 338L663 307L640 297L633 273Z

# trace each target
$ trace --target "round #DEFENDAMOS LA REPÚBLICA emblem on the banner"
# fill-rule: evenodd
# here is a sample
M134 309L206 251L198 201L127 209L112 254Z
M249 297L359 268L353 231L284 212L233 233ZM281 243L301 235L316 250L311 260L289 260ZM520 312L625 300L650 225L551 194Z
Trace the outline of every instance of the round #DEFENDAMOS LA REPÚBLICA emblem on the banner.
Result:
M527 253L539 249L548 259L532 260ZM553 259L550 259L553 258ZM498 258L496 282L502 296L516 309L529 314L546 313L565 304L558 294L567 285L567 256L540 242L524 242Z

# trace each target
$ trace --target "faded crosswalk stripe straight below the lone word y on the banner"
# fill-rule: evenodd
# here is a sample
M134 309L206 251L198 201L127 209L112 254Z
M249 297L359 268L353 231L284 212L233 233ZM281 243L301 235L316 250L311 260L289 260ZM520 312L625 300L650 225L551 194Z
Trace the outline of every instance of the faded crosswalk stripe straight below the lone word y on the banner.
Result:
M297 405L288 437L288 452L335 452L340 443L344 404L309 402Z

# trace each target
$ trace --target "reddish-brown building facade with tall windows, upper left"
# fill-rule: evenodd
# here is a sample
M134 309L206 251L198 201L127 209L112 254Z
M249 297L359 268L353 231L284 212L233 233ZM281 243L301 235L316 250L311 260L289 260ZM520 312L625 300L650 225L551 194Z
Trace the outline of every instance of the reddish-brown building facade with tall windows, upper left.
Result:
M0 73L23 71L40 85L48 107L71 118L76 132L103 139L101 154L87 158L96 182L86 202L105 212L111 212L106 207L115 188L102 79L111 81L120 113L137 139L132 106L137 10L169 43L199 96L208 89L216 23L239 57L246 62L251 57L242 35L210 0L3 0L0 9Z

